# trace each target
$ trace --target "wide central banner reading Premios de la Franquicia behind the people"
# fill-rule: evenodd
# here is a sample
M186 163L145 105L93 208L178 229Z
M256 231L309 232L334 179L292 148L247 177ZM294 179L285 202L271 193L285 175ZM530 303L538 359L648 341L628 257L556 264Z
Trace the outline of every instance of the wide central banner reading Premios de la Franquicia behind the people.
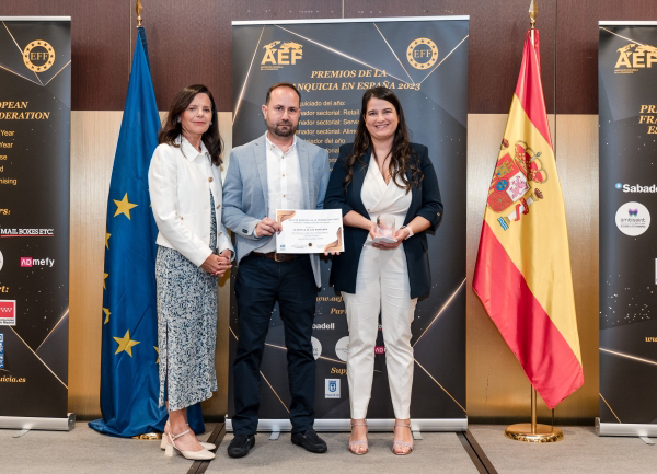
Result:
M365 91L383 85L400 97L412 141L429 149L445 205L442 222L428 235L431 291L418 301L413 323L411 417L415 430L465 430L469 18L233 22L232 31L233 147L265 132L261 105L277 82L291 82L300 90L298 135L327 149L331 166L339 146L354 141ZM348 430L347 321L342 297L328 286L331 259L324 259L313 325L315 429ZM234 293L231 297L232 365L239 332ZM370 430L392 430L394 423L384 352L379 334ZM261 371L258 430L290 430L285 338L277 308ZM234 414L232 393L231 371L229 417ZM227 427L231 429L230 420Z

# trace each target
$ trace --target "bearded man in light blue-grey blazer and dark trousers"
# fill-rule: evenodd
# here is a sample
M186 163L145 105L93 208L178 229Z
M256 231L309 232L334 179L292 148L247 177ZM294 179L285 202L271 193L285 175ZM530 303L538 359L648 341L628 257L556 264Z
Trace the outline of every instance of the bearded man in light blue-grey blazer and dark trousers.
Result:
M301 140L301 94L290 83L269 88L262 106L267 131L230 154L223 184L222 220L233 231L238 251L235 297L239 340L233 363L234 438L231 458L255 443L260 406L260 367L274 304L278 301L288 350L292 402L292 442L316 453L326 443L313 430L315 360L312 322L319 256L276 253L280 231L276 209L322 209L328 184L328 153Z

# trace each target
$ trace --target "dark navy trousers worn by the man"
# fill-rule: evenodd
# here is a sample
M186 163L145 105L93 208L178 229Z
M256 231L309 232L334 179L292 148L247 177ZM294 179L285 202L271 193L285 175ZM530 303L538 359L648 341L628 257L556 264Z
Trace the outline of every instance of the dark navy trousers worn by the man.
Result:
M312 428L315 360L310 337L316 294L307 255L290 262L247 255L240 262L235 281L240 334L233 362L235 435L255 435L257 429L260 368L276 301L285 327L292 432Z

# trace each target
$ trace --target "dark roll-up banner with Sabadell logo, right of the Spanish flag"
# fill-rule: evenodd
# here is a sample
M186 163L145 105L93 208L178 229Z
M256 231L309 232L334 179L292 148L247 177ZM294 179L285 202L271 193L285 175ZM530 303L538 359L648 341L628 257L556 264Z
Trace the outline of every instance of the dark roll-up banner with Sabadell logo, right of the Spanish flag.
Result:
M599 30L596 428L601 436L657 436L657 22L600 22Z

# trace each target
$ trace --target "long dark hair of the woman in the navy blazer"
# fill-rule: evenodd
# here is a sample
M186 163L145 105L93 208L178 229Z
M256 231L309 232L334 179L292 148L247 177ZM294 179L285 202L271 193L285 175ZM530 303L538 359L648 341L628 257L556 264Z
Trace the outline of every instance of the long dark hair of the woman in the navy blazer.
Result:
M362 155L372 147L372 138L365 126L367 104L372 97L390 102L397 113L399 124L394 131L392 149L390 150L389 171L394 184L408 193L413 186L419 186L424 175L419 169L419 155L413 150L411 141L408 140L410 132L406 127L406 120L404 119L402 104L400 104L400 100L394 95L394 92L388 88L368 89L365 91L365 94L362 94L360 119L358 120L358 128L356 128L354 149L351 150L351 154L347 157L345 163L347 166L347 176L344 182L345 192L354 178L354 165L358 162L365 167L366 164L362 162ZM406 177L406 166L412 171L411 181ZM403 183L403 185L400 185L399 182Z

